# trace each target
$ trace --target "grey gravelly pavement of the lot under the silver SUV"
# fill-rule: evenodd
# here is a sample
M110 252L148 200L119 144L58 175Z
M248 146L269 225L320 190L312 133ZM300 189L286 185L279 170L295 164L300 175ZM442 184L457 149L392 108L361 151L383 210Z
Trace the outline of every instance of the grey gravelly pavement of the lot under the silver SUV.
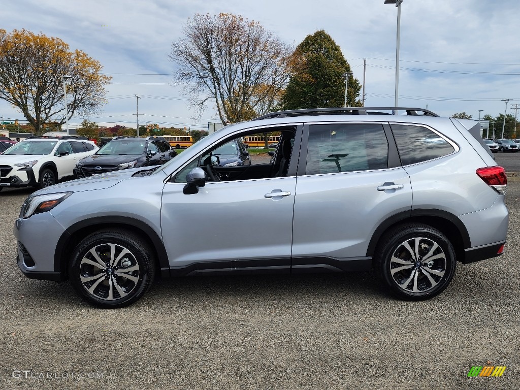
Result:
M29 193L0 194L0 388L520 388L520 183L505 254L459 265L430 301L394 300L365 272L163 280L118 310L21 274L12 225ZM507 369L467 378L486 364Z

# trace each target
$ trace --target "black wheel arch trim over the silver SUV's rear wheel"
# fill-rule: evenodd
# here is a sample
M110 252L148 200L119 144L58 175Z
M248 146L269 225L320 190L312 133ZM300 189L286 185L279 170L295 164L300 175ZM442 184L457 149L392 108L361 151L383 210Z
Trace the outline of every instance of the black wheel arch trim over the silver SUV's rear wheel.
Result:
M406 220L408 218L420 218L420 217L437 217L441 219L446 219L451 222L459 231L462 237L462 243L464 249L471 248L471 239L470 235L467 232L466 227L462 223L462 221L454 214L444 210L438 209L412 209L410 211L403 211L397 214L394 214L388 218L386 218L374 231L372 238L370 239L370 243L368 244L367 256L373 256L375 252L375 247L378 244L383 233L392 225Z

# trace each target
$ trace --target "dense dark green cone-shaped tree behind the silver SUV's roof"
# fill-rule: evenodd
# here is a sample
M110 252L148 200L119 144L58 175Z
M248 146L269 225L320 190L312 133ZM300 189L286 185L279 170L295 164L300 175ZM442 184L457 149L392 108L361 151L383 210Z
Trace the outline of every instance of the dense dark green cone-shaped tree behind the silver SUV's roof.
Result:
M343 107L345 72L351 72L341 48L332 37L320 30L307 35L296 47L292 74L281 98L285 110L303 108ZM347 106L361 107L357 99L361 85L352 76L348 79Z

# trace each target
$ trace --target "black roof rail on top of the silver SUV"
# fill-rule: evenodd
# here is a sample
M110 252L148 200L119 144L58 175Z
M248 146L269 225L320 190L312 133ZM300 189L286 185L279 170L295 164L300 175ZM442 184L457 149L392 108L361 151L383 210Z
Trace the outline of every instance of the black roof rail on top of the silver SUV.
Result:
M269 118L287 118L288 116L310 116L310 115L388 115L388 112L378 112L377 110L392 111L394 114L398 111L406 111L407 115L423 115L423 116L439 116L432 111L423 108L409 107L341 107L341 108L312 108L303 110L287 110L269 112L258 116L253 121ZM422 112L422 114L418 114Z

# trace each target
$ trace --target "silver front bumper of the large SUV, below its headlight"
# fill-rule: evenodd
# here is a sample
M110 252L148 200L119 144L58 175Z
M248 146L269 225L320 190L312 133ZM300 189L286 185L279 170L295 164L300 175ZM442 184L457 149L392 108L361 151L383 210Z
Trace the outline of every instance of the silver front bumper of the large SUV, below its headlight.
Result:
M15 221L13 232L18 240L17 264L25 276L42 280L64 279L54 262L56 243L64 231L50 212Z

